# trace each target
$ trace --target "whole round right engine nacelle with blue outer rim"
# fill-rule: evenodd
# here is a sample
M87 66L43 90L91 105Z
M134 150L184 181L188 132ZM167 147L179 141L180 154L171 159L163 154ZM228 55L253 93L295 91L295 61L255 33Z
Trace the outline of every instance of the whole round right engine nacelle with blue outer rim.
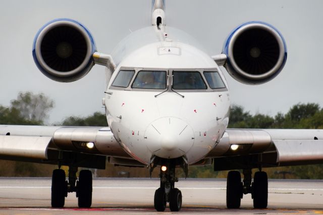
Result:
M224 67L245 84L262 84L275 78L287 60L282 34L264 22L247 22L238 26L224 44L227 55Z

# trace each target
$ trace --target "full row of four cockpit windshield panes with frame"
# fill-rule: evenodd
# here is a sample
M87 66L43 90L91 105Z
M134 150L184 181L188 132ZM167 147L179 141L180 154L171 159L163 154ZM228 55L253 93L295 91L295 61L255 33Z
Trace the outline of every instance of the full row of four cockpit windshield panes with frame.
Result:
M224 91L225 82L216 69L174 71L172 69L121 69L111 86L117 90L139 91Z

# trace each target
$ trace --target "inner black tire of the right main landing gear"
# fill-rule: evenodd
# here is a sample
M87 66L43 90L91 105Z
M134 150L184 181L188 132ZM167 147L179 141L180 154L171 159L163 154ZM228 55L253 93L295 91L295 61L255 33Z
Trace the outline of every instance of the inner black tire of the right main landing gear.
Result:
M243 195L241 175L238 171L230 171L227 177L227 207L239 208Z

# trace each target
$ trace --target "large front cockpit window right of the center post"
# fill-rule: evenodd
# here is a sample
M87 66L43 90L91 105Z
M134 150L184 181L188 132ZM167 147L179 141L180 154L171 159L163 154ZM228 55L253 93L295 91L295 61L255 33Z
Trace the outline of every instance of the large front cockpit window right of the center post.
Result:
M173 72L173 89L206 89L206 84L199 72Z

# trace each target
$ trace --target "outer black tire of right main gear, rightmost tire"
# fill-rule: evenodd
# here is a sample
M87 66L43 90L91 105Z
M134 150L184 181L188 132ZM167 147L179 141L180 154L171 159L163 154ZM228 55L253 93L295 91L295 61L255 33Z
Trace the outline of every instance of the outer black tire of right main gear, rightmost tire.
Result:
M266 208L268 203L268 178L265 172L256 172L252 184L254 208Z

